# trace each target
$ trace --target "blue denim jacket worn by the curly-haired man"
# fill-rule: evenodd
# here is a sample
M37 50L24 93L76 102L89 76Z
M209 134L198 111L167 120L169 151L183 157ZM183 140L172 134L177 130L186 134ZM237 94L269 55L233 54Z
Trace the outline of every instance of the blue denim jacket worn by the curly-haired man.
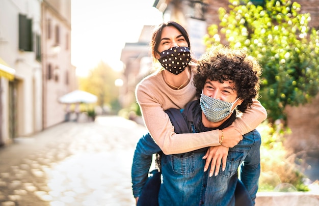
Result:
M205 160L202 157L206 149L163 155L159 205L234 205L237 168L240 165L241 180L254 201L260 174L260 139L257 130L245 134L240 143L229 149L225 171L220 169L219 175L212 177L208 176L209 168L206 172L203 171ZM161 150L149 134L144 135L137 143L131 171L135 197L139 196L147 180L152 154L159 151Z

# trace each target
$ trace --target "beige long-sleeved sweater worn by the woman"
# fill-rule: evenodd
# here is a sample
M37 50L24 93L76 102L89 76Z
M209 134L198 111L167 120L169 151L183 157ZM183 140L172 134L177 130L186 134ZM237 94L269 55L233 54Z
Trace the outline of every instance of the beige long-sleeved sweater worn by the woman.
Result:
M136 98L145 126L166 155L220 145L218 130L190 134L174 133L174 127L164 111L169 108L184 108L188 102L196 99L195 93L193 75L190 83L180 90L171 89L160 72L144 78L136 87ZM251 107L232 124L240 128L243 134L255 129L267 118L267 112L259 101L254 100Z

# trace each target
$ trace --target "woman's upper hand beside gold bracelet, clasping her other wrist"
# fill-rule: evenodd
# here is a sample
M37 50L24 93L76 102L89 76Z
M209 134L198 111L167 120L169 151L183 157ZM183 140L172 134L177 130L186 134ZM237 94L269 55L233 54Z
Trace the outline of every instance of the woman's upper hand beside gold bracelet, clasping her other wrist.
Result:
M229 126L223 129L223 135L224 139L222 141L222 145L227 148L233 148L243 139L242 131L234 126Z

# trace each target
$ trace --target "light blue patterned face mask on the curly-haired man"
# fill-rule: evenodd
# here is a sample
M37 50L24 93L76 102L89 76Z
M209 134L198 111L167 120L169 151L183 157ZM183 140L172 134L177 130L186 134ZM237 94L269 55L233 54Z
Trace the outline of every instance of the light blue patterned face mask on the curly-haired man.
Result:
M224 120L229 114L233 112L236 108L233 108L234 103L238 100L238 98L234 102L225 102L223 100L214 99L208 97L204 94L201 94L200 97L200 107L205 114L207 120L209 122L220 122Z

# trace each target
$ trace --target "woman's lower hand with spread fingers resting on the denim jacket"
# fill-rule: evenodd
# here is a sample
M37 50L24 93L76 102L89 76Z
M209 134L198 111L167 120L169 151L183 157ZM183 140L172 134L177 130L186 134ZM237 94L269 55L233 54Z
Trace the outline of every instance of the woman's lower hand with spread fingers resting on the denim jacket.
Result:
M203 159L206 159L206 163L204 166L204 172L207 171L210 161L211 161L211 167L210 167L210 171L209 171L209 176L212 176L212 174L214 173L214 170L215 170L215 176L218 175L222 161L223 161L222 169L224 171L226 168L226 160L227 160L227 156L228 156L228 150L229 150L229 148L226 148L226 146L223 146L223 145L211 146L207 150L205 156L203 157ZM215 169L215 166L216 166L216 169Z

